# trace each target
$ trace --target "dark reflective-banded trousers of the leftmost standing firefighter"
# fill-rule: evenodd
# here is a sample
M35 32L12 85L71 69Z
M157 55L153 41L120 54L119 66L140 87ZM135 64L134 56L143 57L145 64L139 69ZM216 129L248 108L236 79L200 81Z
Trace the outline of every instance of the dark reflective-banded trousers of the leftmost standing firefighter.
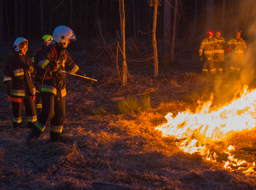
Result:
M25 104L26 116L27 116L27 124L29 128L33 128L36 121L36 111L34 104L34 96L27 96L26 98L20 98L20 102L12 101L12 113L13 113L13 127L21 127L22 126L22 107L23 102Z

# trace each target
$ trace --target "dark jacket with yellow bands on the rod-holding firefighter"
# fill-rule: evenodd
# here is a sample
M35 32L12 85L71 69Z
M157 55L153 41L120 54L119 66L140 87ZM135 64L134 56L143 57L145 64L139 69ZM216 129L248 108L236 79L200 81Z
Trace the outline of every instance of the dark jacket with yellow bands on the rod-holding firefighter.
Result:
M66 48L54 45L46 47L35 64L41 92L50 92L60 98L66 95L65 73L61 70L77 74L81 71Z

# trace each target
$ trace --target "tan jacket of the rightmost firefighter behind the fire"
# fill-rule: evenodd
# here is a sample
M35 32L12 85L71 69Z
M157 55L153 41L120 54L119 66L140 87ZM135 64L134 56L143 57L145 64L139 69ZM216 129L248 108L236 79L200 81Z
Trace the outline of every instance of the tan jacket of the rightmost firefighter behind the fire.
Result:
M233 60L242 61L244 50L246 50L245 40L240 38L239 40L234 38L227 42L233 50Z

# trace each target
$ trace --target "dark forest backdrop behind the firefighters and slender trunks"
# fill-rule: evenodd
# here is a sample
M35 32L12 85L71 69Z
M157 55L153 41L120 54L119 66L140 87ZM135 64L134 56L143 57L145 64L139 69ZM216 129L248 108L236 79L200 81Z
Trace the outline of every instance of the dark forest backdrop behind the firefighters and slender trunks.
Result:
M158 47L164 44L164 1L174 7L175 0L161 0L158 6L156 35ZM152 40L153 9L150 0L124 0L125 37ZM169 6L169 5L168 5ZM228 41L236 30L246 32L254 19L254 0L178 0L175 52L198 52L207 30L221 30ZM170 9L173 20L174 9ZM0 44L11 46L17 37L41 42L55 27L70 27L80 42L120 38L117 0L0 0ZM173 25L173 21L171 21ZM173 26L172 26L173 27ZM172 31L171 31L172 32ZM170 34L171 35L171 34Z

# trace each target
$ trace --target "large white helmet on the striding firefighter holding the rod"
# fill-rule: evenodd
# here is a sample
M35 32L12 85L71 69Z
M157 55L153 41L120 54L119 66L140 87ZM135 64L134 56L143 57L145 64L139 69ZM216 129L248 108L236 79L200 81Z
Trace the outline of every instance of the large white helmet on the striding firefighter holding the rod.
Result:
M52 38L60 45L65 45L68 39L76 40L74 32L67 26L58 26L55 28Z

